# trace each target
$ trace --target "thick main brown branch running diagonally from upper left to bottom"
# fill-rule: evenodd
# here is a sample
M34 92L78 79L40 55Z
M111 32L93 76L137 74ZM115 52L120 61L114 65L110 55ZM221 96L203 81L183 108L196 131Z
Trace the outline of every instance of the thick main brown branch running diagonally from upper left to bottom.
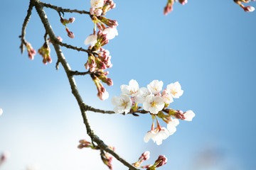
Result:
M97 137L97 135L95 135L94 132L92 131L92 129L90 128L90 124L89 124L89 121L87 120L87 115L86 115L87 110L85 109L85 106L87 106L87 105L85 105L85 103L83 103L82 98L79 94L78 88L75 84L75 79L74 79L73 75L70 74L70 72L72 72L72 69L70 68L68 62L65 60L63 52L60 49L59 41L56 38L55 33L53 33L53 29L50 27L50 23L48 22L46 13L43 10L43 5L38 0L31 0L31 1L33 2L34 6L36 7L38 16L41 18L43 26L46 29L46 33L48 33L48 35L50 36L50 40L53 43L53 47L55 48L55 52L56 52L56 55L58 56L58 60L63 65L63 67L65 69L65 72L68 77L68 81L70 83L70 87L72 89L72 94L75 96L76 100L78 101L78 105L80 106L80 111L82 113L82 119L84 120L85 127L87 129L87 134L91 137L92 142L96 142L98 147L100 147L101 149L105 150L106 152L112 154L112 156L114 156L117 160L119 160L119 162L122 162L122 164L124 164L125 166L129 167L129 169L139 170L139 169L135 168L132 164L129 164L129 162L127 162L126 160L122 159L122 157L120 157L112 149L107 147L107 145L105 145L105 143L102 140L100 140L100 138Z

